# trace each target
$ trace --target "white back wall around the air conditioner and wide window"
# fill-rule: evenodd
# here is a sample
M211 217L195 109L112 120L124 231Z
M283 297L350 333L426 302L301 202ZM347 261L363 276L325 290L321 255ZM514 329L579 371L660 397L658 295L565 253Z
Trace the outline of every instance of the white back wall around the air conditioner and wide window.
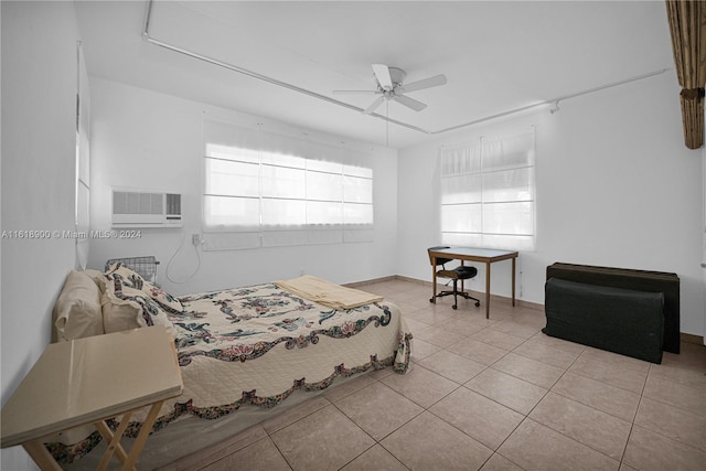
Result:
M108 258L156 255L161 261L158 281L174 293L274 281L297 277L301 270L335 282L396 272L397 152L370 143L346 142L354 149L372 152L374 242L228 251L199 249L201 268L196 275L188 282L173 282L186 279L199 263L191 235L201 232L204 111L248 126L264 122L270 130L297 133L304 130L101 78L92 78L90 94L92 227L98 231L110 227L111 186L182 193L184 227L142 229L137 239L93 239L89 267L103 268ZM309 139L331 143L342 140L306 131ZM175 253L168 278L167 265Z

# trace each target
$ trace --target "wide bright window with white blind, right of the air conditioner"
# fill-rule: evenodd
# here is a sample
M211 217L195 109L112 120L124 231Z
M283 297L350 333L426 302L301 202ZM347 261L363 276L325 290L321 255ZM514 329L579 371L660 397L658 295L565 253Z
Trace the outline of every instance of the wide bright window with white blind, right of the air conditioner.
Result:
M367 154L216 120L204 136L205 249L372 239Z

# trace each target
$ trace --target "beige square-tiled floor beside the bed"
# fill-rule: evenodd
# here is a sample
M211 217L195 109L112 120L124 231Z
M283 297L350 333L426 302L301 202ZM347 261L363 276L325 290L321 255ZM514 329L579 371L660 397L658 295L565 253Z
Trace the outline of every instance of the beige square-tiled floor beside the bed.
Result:
M360 289L404 313L413 368L362 375L229 440L216 470L704 470L706 347L652 364L544 335L539 310Z

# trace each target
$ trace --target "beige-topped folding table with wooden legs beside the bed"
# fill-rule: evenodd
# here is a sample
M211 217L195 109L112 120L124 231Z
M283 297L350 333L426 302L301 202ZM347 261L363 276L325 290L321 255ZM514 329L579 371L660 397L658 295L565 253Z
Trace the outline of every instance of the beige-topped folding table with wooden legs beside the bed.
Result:
M22 445L42 470L61 470L44 447L47 436L93 424L108 443L98 469L113 454L133 470L162 403L183 384L171 335L153 325L46 347L2 408L2 448ZM132 411L150 406L127 454L120 446ZM105 420L122 415L115 433Z

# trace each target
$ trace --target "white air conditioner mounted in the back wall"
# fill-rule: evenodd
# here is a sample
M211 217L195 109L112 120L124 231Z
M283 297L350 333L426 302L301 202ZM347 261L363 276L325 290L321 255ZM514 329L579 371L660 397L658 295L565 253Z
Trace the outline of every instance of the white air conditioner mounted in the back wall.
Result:
M181 194L113 189L113 227L182 227Z

